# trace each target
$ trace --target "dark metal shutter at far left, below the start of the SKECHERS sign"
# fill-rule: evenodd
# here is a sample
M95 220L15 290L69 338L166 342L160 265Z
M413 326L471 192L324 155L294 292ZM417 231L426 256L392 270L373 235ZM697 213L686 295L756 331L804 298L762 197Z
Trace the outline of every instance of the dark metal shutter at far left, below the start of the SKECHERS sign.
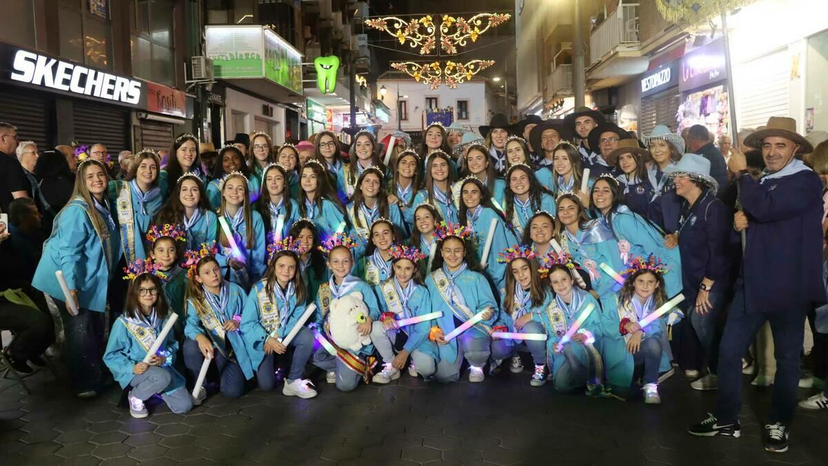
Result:
M34 141L40 150L51 148L51 100L22 92L0 92L0 102L0 121L17 126L21 141Z

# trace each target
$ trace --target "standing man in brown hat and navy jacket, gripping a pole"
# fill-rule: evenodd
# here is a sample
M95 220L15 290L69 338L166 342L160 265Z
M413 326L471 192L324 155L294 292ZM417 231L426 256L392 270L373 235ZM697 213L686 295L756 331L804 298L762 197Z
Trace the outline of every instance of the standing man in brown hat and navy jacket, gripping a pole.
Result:
M720 345L715 415L689 431L700 436L739 437L741 357L758 329L769 322L777 373L764 448L782 453L787 451L797 403L806 310L826 301L821 264L822 184L797 158L813 148L796 133L793 119L773 117L745 143L762 149L766 168L756 181L748 174L743 154L730 157L744 209L734 215L734 231L745 230L747 240Z

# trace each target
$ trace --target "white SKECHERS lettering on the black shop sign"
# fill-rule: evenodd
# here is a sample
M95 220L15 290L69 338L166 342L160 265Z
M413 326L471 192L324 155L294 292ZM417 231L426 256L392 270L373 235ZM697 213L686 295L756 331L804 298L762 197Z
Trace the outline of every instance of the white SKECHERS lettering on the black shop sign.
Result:
M139 80L89 70L84 66L37 55L31 51L17 51L13 66L12 80L23 83L117 100L124 104L135 105L141 100Z

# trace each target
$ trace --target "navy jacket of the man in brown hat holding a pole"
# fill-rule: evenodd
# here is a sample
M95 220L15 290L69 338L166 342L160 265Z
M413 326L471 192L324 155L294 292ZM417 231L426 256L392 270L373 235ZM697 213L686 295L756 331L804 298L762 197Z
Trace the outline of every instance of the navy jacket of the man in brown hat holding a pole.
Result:
M820 178L810 170L763 184L743 176L739 187L749 220L739 278L747 312L804 312L806 303L825 303Z

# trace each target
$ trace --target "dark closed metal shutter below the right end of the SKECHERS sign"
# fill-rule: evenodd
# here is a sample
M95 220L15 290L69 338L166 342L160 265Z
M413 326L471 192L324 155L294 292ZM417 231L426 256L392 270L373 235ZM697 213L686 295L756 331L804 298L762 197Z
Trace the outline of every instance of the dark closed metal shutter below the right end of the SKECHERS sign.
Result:
M129 110L111 105L72 103L75 118L75 140L81 144L102 143L113 160L118 153L129 150Z

